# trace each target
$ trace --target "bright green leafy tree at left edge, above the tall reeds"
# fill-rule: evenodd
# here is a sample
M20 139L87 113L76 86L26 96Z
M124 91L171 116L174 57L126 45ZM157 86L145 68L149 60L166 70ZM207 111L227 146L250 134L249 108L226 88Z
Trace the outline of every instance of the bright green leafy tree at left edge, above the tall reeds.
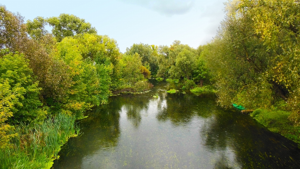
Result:
M2 51L3 53L3 51ZM46 111L40 109L38 82L23 54L5 54L0 58L1 123L43 120Z

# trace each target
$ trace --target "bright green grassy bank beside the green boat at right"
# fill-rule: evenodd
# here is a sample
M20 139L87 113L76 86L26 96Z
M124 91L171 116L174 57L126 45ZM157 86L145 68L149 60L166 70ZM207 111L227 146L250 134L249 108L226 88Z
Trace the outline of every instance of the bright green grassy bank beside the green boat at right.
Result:
M294 126L294 123L287 119L290 112L257 109L250 115L270 131L279 133L300 145L300 126Z

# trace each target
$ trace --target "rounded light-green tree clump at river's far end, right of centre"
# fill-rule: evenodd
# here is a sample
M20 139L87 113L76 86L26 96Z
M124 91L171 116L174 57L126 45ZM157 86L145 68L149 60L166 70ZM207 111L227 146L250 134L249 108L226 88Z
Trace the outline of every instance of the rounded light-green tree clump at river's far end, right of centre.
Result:
M198 50L180 44L180 41L174 41L170 47L160 46L158 63L157 76L193 81L199 85L210 83L209 71Z

